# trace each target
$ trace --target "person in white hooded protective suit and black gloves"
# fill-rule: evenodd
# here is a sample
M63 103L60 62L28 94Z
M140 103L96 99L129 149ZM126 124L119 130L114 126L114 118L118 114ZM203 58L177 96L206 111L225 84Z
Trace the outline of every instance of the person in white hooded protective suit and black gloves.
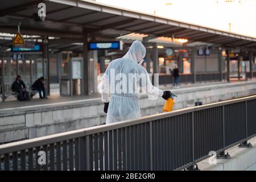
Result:
M165 100L171 97L170 91L162 91L151 84L150 77L142 67L146 48L136 40L125 56L110 62L100 83L106 124L141 117L139 90Z

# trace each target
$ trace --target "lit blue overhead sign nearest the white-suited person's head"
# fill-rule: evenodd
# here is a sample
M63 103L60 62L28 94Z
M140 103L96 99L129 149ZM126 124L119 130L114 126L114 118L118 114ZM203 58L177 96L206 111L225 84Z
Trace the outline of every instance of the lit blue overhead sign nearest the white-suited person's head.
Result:
M122 43L119 41L115 42L90 42L88 43L89 50L98 49L119 49L122 50Z

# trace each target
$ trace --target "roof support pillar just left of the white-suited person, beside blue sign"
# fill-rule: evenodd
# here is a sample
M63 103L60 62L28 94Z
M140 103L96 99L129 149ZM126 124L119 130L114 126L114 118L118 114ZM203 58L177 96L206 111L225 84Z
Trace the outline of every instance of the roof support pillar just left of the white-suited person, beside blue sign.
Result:
M82 52L83 52L83 64L82 64L82 87L81 95L89 96L90 95L90 60L89 60L89 51L88 51L88 32L84 29L82 31Z

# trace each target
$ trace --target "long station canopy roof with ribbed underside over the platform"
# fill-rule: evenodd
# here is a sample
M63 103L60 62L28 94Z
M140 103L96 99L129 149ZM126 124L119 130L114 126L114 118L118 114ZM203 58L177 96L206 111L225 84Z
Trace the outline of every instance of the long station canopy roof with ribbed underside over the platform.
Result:
M40 2L46 4L43 22L36 21L33 16L38 13ZM170 38L175 38L188 39L188 45L203 42L231 48L256 48L256 38L89 0L1 1L0 32L14 34L19 23L21 34L61 38L49 40L49 43L64 47L67 45L63 43L81 43L83 32L86 32L96 41L127 39L127 35L136 34L140 39L148 36L151 38L148 42L156 43L171 44ZM10 40L1 39L0 46L8 43Z

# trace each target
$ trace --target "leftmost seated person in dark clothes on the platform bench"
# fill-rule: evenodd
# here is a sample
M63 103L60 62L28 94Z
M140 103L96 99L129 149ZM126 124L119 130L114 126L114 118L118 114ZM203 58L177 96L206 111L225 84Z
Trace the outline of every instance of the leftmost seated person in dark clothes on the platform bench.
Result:
M17 75L13 85L11 85L11 91L17 93L17 98L19 101L26 101L29 99L29 93L26 90L26 85L22 81L22 77Z

